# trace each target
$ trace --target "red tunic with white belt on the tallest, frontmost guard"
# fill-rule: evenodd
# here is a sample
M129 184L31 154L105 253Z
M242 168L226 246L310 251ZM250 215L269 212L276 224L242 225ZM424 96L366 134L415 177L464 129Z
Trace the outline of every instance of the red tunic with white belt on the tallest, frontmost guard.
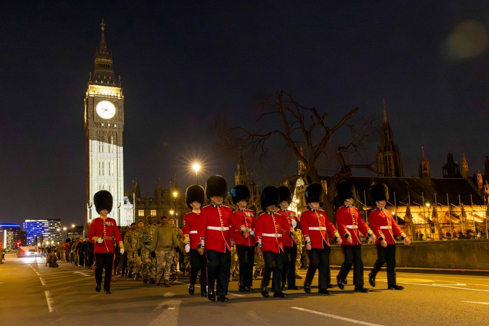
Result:
M228 206L207 205L200 211L199 238L204 238L205 249L219 252L231 251L231 216Z

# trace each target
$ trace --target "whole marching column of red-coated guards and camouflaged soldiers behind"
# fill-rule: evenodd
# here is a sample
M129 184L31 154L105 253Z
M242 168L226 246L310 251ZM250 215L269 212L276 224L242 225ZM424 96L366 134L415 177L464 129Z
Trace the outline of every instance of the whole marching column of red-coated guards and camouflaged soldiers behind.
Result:
M224 205L227 196L226 180L219 175L209 177L205 189L197 184L188 186L185 201L191 210L183 217L182 229L174 226L166 215L155 222L153 216L126 227L122 236L115 220L108 218L112 210L112 195L101 191L94 196L94 205L100 217L90 225L89 237L61 244L56 249L62 260L75 265L95 266L96 291L103 288L111 293L112 275L140 277L144 283L170 287L170 277L177 279L179 253L185 253L180 271L189 271L188 294L194 295L199 278L202 297L210 301L228 302L228 286L232 275L232 253L237 256L238 290L253 292L253 280L260 275L260 293L264 297L273 291L274 297L287 297L284 291L303 289L311 293L311 284L318 271L318 294L330 294L330 238L341 246L344 261L336 276L336 286L343 290L353 269L355 292L368 293L364 285L362 236L375 243L377 260L368 275L375 287L379 269L387 264L388 289L403 290L396 282L396 239L408 245L411 240L385 209L389 200L388 188L383 183L372 183L368 198L373 205L368 215L369 225L355 207L355 186L347 179L337 186L336 227L321 209L323 193L319 183L311 183L305 192L307 209L297 215L288 210L292 201L286 186L267 186L261 192L261 212L255 213L246 185L231 189L230 199L235 209ZM210 202L204 206L205 201ZM145 223L146 222L146 223ZM302 279L303 253L309 261L303 287L295 284ZM93 261L95 256L95 261ZM92 259L90 258L92 257ZM115 259L114 259L115 258ZM256 261L255 261L256 260ZM113 265L114 263L114 265ZM181 261L180 261L181 263ZM253 266L255 265L253 273ZM188 266L189 265L189 266ZM187 269L188 267L188 269ZM271 286L270 286L271 281Z

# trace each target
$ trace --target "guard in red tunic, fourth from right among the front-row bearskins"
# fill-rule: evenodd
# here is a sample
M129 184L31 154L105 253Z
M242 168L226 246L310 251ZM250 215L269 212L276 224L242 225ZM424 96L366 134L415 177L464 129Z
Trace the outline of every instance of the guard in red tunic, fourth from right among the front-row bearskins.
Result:
M280 281L282 280L282 271L284 260L286 259L284 246L282 244L282 234L284 230L295 237L294 230L290 227L282 215L277 213L279 204L279 191L274 186L267 186L261 193L261 209L264 213L258 216L255 224L255 235L257 239L258 253L263 252L265 260L265 271L261 281L261 295L268 297L267 286L270 283L270 274L273 271L271 280L271 289L274 291L274 297L285 297L286 293L282 292ZM286 231L287 232L287 231Z

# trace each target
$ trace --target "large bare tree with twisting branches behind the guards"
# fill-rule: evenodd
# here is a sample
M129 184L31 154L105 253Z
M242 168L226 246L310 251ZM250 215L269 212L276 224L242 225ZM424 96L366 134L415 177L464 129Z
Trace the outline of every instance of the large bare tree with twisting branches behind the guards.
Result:
M329 216L333 216L334 197L336 184L344 177L351 175L354 168L364 168L374 171L371 164L347 164L346 157L352 153L361 154L363 141L373 130L371 122L360 121L352 122L352 118L359 111L359 107L347 112L336 122L328 120L328 112L319 112L315 107L306 107L297 103L290 94L280 91L276 98L273 110L263 113L257 122L265 118L273 117L280 119L279 127L263 132L249 131L245 128L236 126L227 129L226 143L236 145L252 146L253 151L265 159L267 157L268 142L273 138L279 138L285 142L286 148L290 150L290 158L295 158L303 164L302 175L286 176L293 179L303 178L306 183L320 182L319 170L324 162L332 159L331 150L335 152L336 161L339 164L339 171L334 173L328 186L328 195L325 196L324 204ZM341 129L349 130L349 135L341 144L334 145L333 136L340 133ZM232 141L229 141L233 139ZM334 148L333 148L334 147Z

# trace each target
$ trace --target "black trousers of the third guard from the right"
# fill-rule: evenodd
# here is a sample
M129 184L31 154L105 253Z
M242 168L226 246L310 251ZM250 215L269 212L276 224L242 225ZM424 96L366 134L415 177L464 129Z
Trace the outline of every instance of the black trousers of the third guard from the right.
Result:
M309 268L307 269L306 280L304 281L305 285L310 286L312 280L314 279L314 274L316 274L316 270L319 269L319 279L318 279L318 288L319 289L327 289L328 284L330 283L330 252L331 248L328 246L328 243L323 241L323 249L312 248L308 250L309 255Z

